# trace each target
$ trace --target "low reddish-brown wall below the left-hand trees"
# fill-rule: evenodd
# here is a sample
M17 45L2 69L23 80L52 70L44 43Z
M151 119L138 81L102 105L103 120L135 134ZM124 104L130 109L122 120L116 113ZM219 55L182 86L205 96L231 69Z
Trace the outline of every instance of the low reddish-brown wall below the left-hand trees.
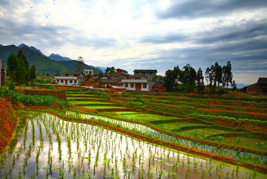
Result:
M20 93L26 94L26 95L50 95L50 96L58 97L59 99L67 100L65 91L21 89L21 90L17 90L17 92L20 92Z

